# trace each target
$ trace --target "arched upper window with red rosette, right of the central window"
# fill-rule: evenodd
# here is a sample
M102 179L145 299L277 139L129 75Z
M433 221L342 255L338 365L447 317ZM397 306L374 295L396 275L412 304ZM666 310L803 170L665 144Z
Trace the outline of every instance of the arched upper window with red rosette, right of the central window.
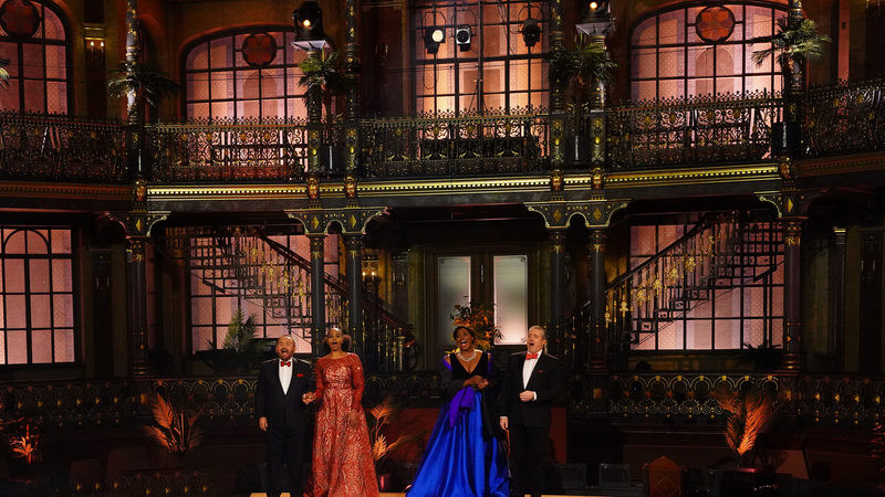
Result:
M781 88L769 57L752 61L747 40L774 33L781 6L716 4L655 12L631 36L631 92L634 99L674 98Z

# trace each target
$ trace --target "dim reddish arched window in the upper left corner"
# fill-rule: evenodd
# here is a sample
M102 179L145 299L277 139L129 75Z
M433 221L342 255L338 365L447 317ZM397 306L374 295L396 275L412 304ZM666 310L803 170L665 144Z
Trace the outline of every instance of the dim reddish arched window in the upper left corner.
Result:
M70 106L66 22L52 4L0 0L0 59L9 61L9 88L0 109L66 114Z

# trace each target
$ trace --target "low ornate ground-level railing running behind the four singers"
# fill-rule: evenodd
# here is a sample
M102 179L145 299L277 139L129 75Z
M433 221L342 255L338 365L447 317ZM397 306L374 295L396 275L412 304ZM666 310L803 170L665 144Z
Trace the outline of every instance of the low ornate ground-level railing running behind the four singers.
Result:
M752 388L778 392L789 401L785 414L822 427L872 429L885 415L885 378L858 374L660 371L611 374L601 381L603 388L597 391L591 388L590 374L568 374L564 401L570 412L586 413L598 399L607 405L614 422L717 422L716 417L722 414L717 394ZM0 385L0 413L3 420L27 416L46 427L128 425L139 412L149 412L147 394L153 393L167 396L176 405L201 408L210 416L249 417L254 415L254 374L138 382L17 382ZM407 405L439 405L439 377L435 371L366 373L366 405L379 402L388 393L407 400Z

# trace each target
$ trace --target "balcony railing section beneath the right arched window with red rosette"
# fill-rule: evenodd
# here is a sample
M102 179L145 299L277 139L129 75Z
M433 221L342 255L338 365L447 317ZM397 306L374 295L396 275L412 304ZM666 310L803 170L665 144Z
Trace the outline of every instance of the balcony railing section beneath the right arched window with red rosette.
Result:
M781 112L763 92L625 103L606 114L608 159L616 169L770 160Z

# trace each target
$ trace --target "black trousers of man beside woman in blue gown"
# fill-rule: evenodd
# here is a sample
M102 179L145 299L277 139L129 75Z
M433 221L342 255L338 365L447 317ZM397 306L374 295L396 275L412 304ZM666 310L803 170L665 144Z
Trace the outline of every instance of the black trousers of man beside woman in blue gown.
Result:
M540 497L550 426L510 425L510 495Z

